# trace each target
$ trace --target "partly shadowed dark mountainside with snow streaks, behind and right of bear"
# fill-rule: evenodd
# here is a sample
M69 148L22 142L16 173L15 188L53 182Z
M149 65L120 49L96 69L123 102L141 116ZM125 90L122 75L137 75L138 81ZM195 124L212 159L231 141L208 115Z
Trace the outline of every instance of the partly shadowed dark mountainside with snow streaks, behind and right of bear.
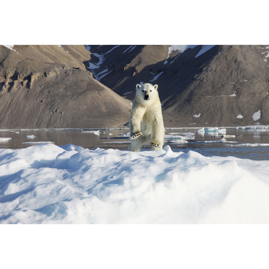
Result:
M269 124L269 46L89 45L88 70L132 100L158 84L165 127ZM202 53L204 52L204 53Z

